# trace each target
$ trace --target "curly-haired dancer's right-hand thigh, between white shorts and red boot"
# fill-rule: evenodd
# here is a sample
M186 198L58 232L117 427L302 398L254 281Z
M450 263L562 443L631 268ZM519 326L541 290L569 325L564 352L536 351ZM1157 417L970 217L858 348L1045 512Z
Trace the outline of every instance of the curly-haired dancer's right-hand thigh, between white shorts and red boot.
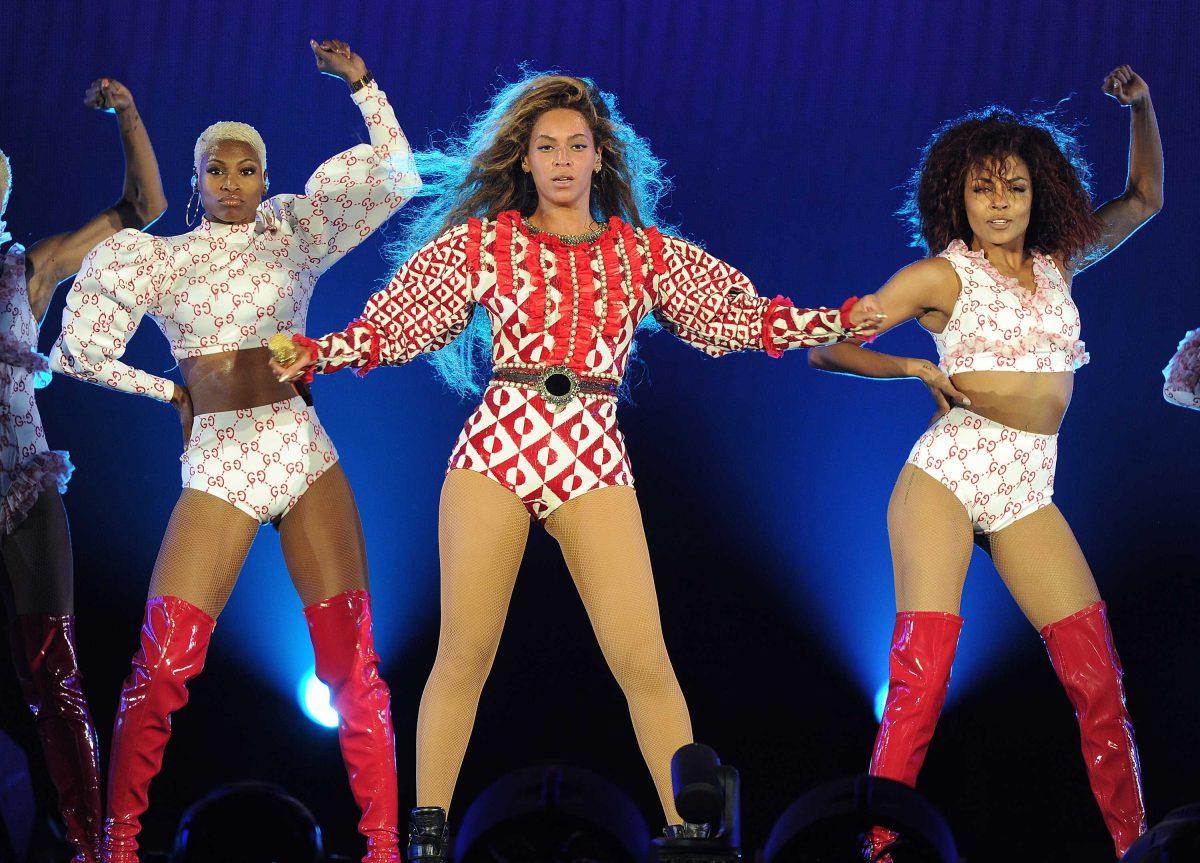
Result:
M989 538L992 563L1037 629L1099 601L1084 551L1054 504Z

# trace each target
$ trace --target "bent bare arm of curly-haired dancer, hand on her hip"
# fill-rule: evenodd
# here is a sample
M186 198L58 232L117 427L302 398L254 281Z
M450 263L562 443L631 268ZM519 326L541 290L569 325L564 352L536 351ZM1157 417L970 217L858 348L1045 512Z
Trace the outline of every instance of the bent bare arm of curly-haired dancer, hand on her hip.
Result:
M880 312L887 316L878 329L880 332L886 332L914 318L936 314L949 317L958 290L954 268L941 258L926 258L905 266L878 292L863 300L874 299ZM809 365L821 371L860 378L916 378L929 388L938 414L955 404L971 403L934 362L880 353L858 342L814 348L809 352Z

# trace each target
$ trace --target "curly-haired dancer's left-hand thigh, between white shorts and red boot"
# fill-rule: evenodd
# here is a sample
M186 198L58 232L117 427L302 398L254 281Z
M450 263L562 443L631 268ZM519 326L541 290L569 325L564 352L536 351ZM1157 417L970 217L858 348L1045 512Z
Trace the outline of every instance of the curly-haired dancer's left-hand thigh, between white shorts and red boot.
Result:
M959 613L974 547L966 508L936 479L905 465L888 503L899 611Z

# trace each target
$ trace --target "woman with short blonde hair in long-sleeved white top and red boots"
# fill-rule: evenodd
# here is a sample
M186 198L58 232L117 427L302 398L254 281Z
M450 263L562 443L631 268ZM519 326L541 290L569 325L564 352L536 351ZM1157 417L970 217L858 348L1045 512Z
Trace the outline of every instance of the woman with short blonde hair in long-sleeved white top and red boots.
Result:
M114 863L137 859L169 715L187 702L186 683L202 670L215 619L268 522L280 532L317 676L340 715L365 859L398 861L390 696L372 646L358 510L306 390L270 374L265 346L281 329L304 328L320 275L400 209L420 179L362 59L343 42L312 49L322 72L349 84L370 144L322 164L304 194L262 202L262 138L245 124L209 127L192 179L199 226L169 238L124 230L97 246L67 296L52 355L58 371L175 404L186 441L184 491L155 563L113 732L104 859ZM186 386L120 361L145 314L170 341Z

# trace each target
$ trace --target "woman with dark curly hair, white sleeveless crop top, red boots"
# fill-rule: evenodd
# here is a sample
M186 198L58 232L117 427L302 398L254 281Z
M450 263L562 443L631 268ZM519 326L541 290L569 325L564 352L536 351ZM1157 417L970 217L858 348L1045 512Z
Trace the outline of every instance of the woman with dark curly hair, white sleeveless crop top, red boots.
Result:
M1121 856L1146 828L1121 664L1091 569L1051 499L1058 426L1087 361L1072 280L1163 200L1146 83L1121 66L1104 91L1132 109L1132 144L1126 191L1099 209L1078 145L1049 118L989 109L947 125L926 148L905 212L917 244L940 253L900 270L875 298L888 316L883 329L917 319L932 334L940 367L856 346L814 350L810 361L862 377L919 377L942 412L888 507L899 613L871 773L917 781L946 699L976 540L1042 633ZM889 839L872 832L872 853Z

